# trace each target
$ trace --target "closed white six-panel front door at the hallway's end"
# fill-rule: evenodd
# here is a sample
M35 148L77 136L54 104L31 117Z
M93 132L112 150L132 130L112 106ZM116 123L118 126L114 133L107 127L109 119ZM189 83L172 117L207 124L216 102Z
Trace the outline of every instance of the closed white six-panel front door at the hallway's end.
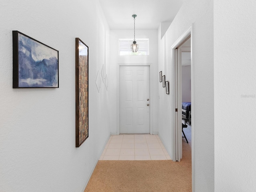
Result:
M150 68L120 66L120 134L150 133Z

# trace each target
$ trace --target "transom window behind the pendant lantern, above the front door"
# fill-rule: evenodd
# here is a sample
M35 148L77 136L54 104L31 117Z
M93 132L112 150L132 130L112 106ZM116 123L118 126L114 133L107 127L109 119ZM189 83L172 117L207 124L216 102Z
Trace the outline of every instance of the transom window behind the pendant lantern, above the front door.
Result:
M139 50L134 53L131 50L133 39L119 39L119 55L149 55L149 39L136 39Z

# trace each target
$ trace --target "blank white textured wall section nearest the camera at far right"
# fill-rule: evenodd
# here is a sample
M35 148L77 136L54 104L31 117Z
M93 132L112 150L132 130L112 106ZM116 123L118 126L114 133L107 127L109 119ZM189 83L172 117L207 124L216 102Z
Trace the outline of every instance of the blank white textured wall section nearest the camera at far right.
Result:
M214 0L215 191L256 188L256 1Z

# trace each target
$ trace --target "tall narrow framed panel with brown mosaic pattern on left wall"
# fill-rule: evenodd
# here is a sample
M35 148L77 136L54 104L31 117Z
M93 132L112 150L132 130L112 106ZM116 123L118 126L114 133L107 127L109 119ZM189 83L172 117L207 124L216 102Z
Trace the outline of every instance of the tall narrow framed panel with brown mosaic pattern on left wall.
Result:
M89 48L76 38L76 147L89 137Z

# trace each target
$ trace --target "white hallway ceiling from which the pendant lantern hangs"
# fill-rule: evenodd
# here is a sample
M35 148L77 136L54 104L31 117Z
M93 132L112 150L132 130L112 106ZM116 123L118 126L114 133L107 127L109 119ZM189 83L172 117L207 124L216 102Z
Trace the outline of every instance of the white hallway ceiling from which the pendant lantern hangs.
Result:
M185 0L99 0L111 30L158 29L172 22Z

